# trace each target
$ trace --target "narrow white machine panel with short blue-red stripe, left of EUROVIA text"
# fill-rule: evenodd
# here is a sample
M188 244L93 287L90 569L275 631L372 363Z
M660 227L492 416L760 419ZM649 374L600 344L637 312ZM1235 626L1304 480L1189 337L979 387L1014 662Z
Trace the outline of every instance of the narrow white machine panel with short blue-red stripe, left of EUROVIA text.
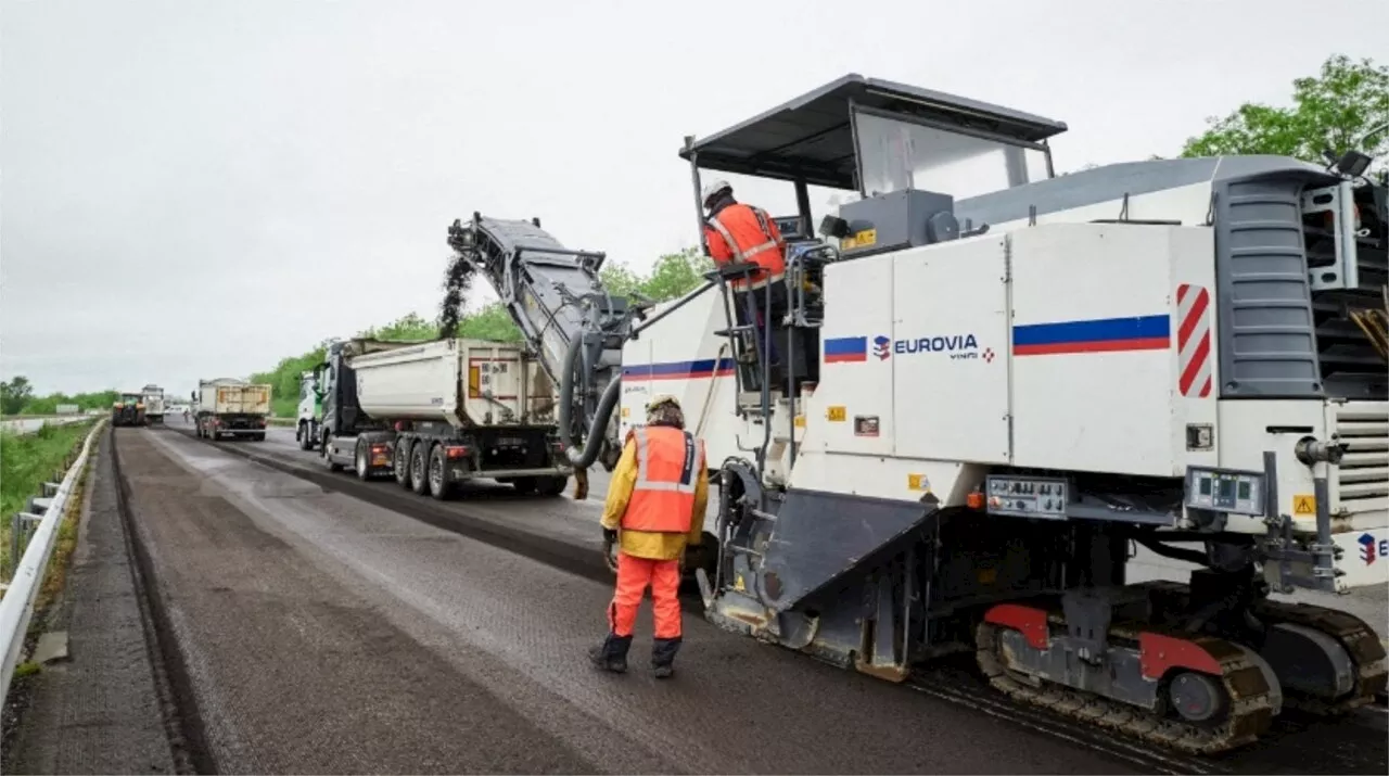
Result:
M860 258L825 268L820 385L807 425L806 448L892 455L897 429L893 407L893 255ZM820 412L811 418L810 412ZM875 422L870 422L875 418ZM872 426L872 428L870 428ZM808 430L808 429L807 429Z

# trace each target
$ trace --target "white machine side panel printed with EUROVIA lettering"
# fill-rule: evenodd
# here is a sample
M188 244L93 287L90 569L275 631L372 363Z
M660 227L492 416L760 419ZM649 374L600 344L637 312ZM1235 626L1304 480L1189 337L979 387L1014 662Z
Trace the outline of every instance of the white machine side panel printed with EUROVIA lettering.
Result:
M896 455L1007 464L1007 237L911 250L893 262Z

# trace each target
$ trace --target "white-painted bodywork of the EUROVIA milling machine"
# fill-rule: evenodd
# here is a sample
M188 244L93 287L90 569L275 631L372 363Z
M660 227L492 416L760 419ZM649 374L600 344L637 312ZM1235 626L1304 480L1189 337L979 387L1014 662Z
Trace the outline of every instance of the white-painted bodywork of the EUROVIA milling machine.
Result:
M1129 217L1200 223L1204 190L1132 197ZM1154 204L1163 212L1145 212ZM1389 580L1389 403L1220 400L1211 230L1076 222L1113 210L828 265L820 383L797 403L793 465L778 403L764 476L875 498L929 490L950 507L997 468L1182 478L1261 472L1271 450L1276 509L1300 533L1315 533L1313 479L1328 478L1338 587ZM725 326L708 293L628 343L624 435L650 396L671 393L711 466L756 458L764 432L736 414ZM1188 448L1189 425L1210 426L1207 448ZM1293 454L1303 436L1349 441L1346 459L1314 472ZM1225 530L1268 528L1229 515Z

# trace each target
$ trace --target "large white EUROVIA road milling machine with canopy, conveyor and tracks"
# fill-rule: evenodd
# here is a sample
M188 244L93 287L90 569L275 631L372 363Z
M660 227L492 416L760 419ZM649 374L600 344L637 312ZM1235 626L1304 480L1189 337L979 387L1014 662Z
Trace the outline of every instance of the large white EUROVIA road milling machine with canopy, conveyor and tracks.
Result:
M975 652L1017 701L1189 752L1371 702L1379 636L1271 594L1386 583L1385 186L1354 151L1053 176L1064 130L849 75L686 139L696 207L704 172L795 186L765 329L732 323L746 267L629 305L538 222L450 243L563 353L571 462L682 398L722 627L892 680ZM861 197L822 237L811 186ZM1128 583L1139 546L1197 571Z

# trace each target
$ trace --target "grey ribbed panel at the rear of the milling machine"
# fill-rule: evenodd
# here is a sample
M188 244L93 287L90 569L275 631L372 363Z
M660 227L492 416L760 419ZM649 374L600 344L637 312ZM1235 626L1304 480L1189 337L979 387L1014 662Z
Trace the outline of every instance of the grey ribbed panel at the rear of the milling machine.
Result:
M1321 397L1300 178L1215 187L1221 383L1225 398Z

